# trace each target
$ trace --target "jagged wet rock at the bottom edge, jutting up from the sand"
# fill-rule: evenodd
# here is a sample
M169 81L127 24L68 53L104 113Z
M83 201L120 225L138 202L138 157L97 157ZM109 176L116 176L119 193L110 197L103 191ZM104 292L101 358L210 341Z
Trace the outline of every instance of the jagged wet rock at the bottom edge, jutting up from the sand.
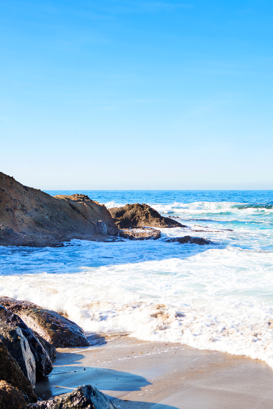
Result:
M29 409L117 409L104 393L91 385L79 386L72 392L63 393L49 400L29 405Z

